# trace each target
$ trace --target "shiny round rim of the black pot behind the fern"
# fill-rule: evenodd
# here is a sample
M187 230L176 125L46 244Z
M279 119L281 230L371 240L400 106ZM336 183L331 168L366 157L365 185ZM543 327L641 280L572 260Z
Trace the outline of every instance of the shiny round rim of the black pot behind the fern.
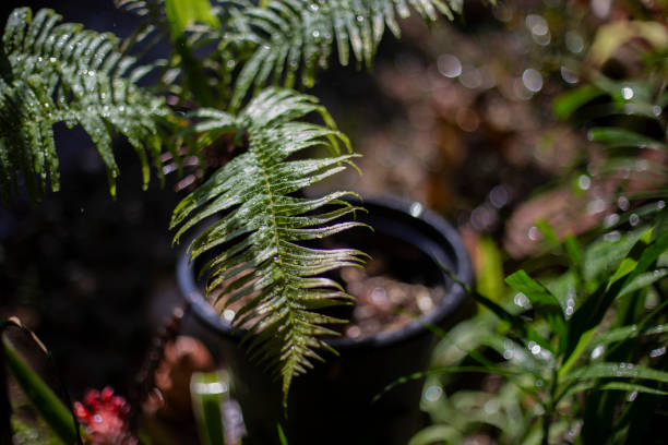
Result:
M406 201L394 196L363 199L361 204L386 207L431 226L450 243L450 248L452 249L452 256L450 260L453 264L453 273L463 282L467 285L473 284L473 266L468 252L464 246L464 242L454 227L441 216L433 211L425 208L419 202ZM434 243L436 241L432 242L432 244ZM439 264L440 261L434 257L436 255L433 252L428 252L425 246L413 244L416 249L427 254L436 265ZM190 241L186 245L190 245ZM446 249L443 245L438 245L438 248L445 254ZM444 282L452 281L445 272L441 272L441 274ZM206 301L196 284L194 275L193 266L189 261L188 248L181 249L177 261L177 284L183 298L190 303L190 310L213 330L240 340L246 334L246 329L232 329L231 325L216 312L208 301ZM439 323L446 320L449 316L454 315L464 304L466 292L462 286L456 282L450 282L445 299L434 310L413 320L398 329L380 332L360 338L329 338L325 339L325 342L334 349L341 350L404 341L419 334L424 334L429 329L429 326L439 325Z

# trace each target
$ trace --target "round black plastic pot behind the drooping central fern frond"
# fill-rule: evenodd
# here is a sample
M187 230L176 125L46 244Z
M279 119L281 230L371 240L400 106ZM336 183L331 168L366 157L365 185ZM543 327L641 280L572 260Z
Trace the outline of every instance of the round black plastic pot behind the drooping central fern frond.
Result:
M329 354L325 363L293 382L287 412L281 404L279 382L248 361L238 347L239 335L231 334L229 324L202 297L188 258L183 255L179 261L180 289L196 320L216 333L215 347L230 368L234 396L249 431L244 445L278 443L278 422L290 445L406 445L419 426L424 381L408 380L371 400L386 385L427 369L436 338L426 326L448 328L473 306L461 286L439 266L444 264L472 284L470 261L453 227L420 204L366 200L363 206L368 214L358 214L358 219L374 231L353 229L337 242L382 255L395 278L443 286L446 297L437 309L398 330L330 340L339 356Z

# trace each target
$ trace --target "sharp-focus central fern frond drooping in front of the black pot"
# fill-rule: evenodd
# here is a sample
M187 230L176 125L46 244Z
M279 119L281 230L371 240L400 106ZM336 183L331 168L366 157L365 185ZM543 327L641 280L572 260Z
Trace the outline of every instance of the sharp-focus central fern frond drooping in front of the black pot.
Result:
M311 112L327 125L298 121ZM207 290L222 287L226 304L244 301L234 323L253 335L253 356L277 364L287 395L293 377L319 359L315 349L327 349L321 336L333 332L326 325L339 322L315 310L350 299L321 275L359 265L363 255L303 244L360 225L339 219L358 209L342 200L346 192L320 199L294 194L343 170L355 155L313 97L287 89L262 91L236 117L215 109L195 116L201 121L192 130L202 134L202 144L231 133L247 137L248 149L177 206L171 220L172 228L179 227L175 242L203 219L219 216L192 242L191 258L220 250L204 266ZM295 158L313 146L325 146L332 155Z

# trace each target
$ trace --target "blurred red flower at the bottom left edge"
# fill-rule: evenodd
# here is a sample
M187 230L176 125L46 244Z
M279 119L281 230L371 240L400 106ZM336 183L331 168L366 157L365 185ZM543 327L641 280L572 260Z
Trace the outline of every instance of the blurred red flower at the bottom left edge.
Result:
M85 406L84 406L85 404ZM74 404L74 413L84 426L87 444L136 445L127 422L130 406L120 396L114 395L109 386L100 392L88 389L84 404Z

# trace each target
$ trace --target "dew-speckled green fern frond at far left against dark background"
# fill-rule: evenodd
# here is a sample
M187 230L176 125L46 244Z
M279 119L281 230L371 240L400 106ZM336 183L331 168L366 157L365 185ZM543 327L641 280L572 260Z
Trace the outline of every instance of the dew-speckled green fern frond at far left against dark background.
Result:
M59 189L52 130L58 122L81 125L88 133L107 167L111 194L119 175L111 136L115 131L123 134L142 161L146 187L148 157L159 167L156 121L168 113L163 99L135 85L147 68L126 74L134 59L117 51L116 37L60 21L51 10L43 9L33 19L32 11L23 8L10 15L4 28L0 53L2 197L17 192L19 175L32 199L44 195L47 179L53 191Z

